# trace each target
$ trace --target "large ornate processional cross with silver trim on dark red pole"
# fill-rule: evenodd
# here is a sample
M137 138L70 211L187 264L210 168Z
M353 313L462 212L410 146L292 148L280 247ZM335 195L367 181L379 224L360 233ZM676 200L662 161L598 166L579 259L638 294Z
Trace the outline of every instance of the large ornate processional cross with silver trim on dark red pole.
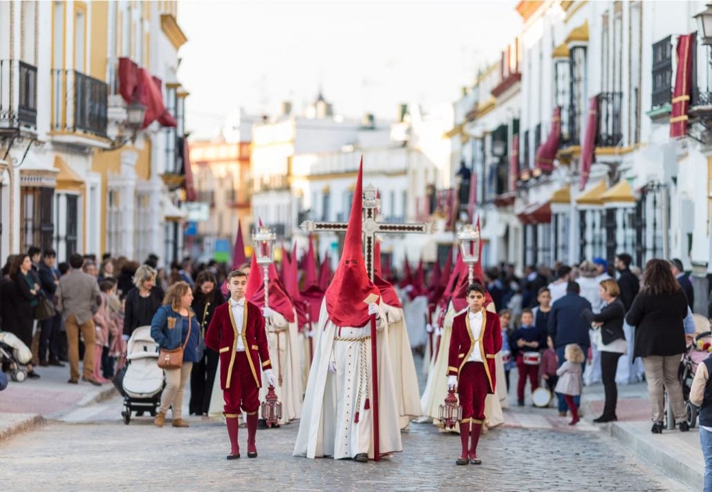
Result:
M364 260L368 277L373 282L373 265L376 245L376 234L378 233L417 233L428 234L434 232L434 225L425 223L415 224L395 224L379 223L377 220L378 210L381 207L381 200L377 196L376 188L368 185L363 191L363 216L362 233ZM306 232L346 232L347 222L318 222L315 220L305 220L300 226ZM375 461L381 459L379 451L379 418L378 418L378 365L376 350L376 321L371 319L371 364L372 364L372 392L373 392L373 451Z

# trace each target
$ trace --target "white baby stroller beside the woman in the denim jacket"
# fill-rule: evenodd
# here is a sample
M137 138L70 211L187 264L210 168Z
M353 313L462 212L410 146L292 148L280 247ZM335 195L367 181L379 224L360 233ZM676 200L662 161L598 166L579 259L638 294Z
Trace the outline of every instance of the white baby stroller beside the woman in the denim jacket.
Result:
M139 326L126 346L126 372L121 382L124 405L121 416L131 422L131 412L156 416L164 387L163 370L158 367L158 344L151 338L150 326Z

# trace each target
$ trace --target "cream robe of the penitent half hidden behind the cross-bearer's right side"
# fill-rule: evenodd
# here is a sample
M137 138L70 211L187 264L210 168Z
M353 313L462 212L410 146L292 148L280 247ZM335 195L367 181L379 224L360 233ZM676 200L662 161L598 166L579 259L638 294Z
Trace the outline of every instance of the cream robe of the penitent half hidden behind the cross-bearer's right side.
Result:
M396 388L396 408L400 428L420 415L420 390L415 373L413 351L408 340L408 331L403 319L403 309L381 304L388 320L388 342Z

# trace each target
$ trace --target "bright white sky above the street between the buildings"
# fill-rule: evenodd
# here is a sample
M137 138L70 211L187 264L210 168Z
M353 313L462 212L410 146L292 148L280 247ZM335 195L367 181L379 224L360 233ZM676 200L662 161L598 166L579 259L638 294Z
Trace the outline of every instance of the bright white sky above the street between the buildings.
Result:
M519 31L516 1L179 2L187 129L229 114L302 109L319 88L338 114L392 119L399 102L451 102Z

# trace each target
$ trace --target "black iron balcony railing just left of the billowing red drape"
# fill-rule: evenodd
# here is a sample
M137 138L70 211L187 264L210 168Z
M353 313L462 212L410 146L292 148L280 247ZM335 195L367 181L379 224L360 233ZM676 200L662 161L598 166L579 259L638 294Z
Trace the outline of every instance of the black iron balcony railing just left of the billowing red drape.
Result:
M106 138L108 85L76 70L52 70L52 129Z

